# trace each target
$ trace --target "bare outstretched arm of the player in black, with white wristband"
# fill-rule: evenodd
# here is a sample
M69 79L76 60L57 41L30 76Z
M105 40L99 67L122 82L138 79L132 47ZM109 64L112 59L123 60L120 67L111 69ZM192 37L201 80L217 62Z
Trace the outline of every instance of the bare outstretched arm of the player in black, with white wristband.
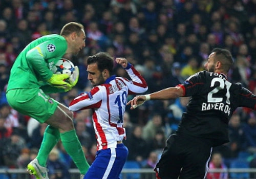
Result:
M130 100L127 105L131 104L131 109L135 109L136 107L142 105L145 101L148 100L167 100L175 99L181 96L184 96L184 91L182 86L180 85L176 87L168 87L155 93L136 96L132 100Z

